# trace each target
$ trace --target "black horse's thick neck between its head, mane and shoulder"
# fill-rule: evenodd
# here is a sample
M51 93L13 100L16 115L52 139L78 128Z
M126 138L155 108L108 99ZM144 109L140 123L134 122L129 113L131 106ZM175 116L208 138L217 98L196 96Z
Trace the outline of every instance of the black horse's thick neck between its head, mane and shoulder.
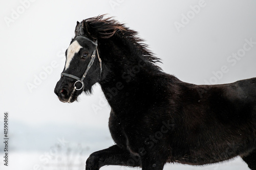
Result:
M157 86L157 75L161 71L141 57L130 60L125 57L131 56L113 57L116 58L113 59L115 63L112 63L112 70L100 82L106 99L115 112L140 109L151 98L152 88ZM116 61L118 58L120 61Z

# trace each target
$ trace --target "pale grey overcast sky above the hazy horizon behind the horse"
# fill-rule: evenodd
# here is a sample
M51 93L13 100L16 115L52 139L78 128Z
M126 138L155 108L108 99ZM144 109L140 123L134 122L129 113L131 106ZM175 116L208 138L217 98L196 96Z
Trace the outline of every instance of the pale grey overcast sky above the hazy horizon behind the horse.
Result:
M100 14L138 31L162 59L163 70L184 82L256 77L255 8L253 0L1 1L0 119L8 111L11 126L108 131L110 107L102 103L99 85L72 104L61 103L53 92L76 21Z

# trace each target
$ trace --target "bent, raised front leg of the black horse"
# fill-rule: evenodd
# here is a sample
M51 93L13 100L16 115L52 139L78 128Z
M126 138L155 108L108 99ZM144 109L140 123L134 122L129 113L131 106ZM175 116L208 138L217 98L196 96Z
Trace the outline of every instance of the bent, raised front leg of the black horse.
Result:
M108 149L92 153L86 161L86 170L98 170L104 165L140 166L139 156L113 145Z

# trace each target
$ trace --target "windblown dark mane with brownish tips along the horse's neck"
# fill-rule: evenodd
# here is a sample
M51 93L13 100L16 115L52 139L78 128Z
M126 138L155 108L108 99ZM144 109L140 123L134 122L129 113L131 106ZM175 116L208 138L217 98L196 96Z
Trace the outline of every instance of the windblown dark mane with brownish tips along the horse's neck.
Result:
M81 22L87 30L87 36L92 39L119 37L139 56L144 57L146 61L151 62L158 69L161 69L156 65L157 62L161 63L161 59L157 58L154 53L148 50L148 45L144 43L143 39L138 37L138 32L125 27L123 23L118 22L113 17L104 18L104 16L91 17Z

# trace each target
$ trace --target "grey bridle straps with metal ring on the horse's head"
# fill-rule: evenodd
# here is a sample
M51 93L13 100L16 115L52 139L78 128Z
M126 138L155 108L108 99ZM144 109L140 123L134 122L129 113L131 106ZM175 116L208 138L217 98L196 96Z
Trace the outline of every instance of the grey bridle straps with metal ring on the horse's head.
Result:
M96 40L96 41L94 42L94 41L92 41L92 40L90 40L89 38L84 37L84 36L77 36L77 37L82 37L82 38L85 38L85 39L91 41L96 47L95 47L95 50L93 51L93 54L92 54L92 56L91 56L91 60L90 60L88 66L87 66L87 68L86 68L86 71L84 72L84 74L82 75L81 78L78 78L78 77L76 77L76 76L74 76L74 75L67 74L67 73L65 73L65 72L62 72L62 73L61 73L61 77L67 76L67 77L70 77L70 78L73 78L73 79L76 79L76 80L77 80L77 81L74 83L74 89L73 89L73 91L72 91L72 93L71 93L71 95L70 95L70 98L69 98L68 103L70 102L70 100L71 100L71 98L72 98L72 95L73 95L73 93L75 92L75 90L81 90L81 89L83 90L83 89L84 89L83 79L86 78L86 75L87 75L87 73L88 73L90 67L93 65L96 52L97 52L97 56L98 56L98 59L99 59L100 76L101 76L101 72L102 72L101 59L100 59L100 57L99 57L99 52L98 52L98 48L97 48L97 46L98 46L98 44L97 44L98 40ZM77 37L76 37L76 38L77 38ZM76 83L78 83L78 82L80 82L80 83L82 84L82 87L79 88L79 89L76 88Z

